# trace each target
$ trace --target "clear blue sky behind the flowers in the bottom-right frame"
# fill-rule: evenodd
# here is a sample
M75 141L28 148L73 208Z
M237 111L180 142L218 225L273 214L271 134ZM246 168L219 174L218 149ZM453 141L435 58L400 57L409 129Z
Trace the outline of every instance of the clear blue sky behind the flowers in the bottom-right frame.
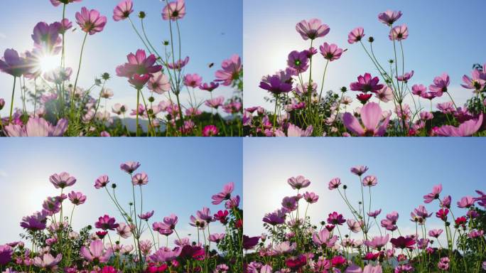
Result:
M292 176L311 181L305 191L314 191L319 200L309 206L308 215L318 224L333 211L352 217L339 193L328 189L328 182L341 178L355 205L361 199L360 181L350 168L368 166L367 174L378 178L372 188L372 210L382 209L379 219L396 210L402 234L415 232L409 220L414 208L425 205L429 213L438 210L436 202L423 203L434 185L442 183L443 196L452 196L456 217L465 213L455 205L460 198L477 196L476 189L486 190L482 161L486 146L481 139L244 139L243 150L244 232L253 236L264 231L265 213L280 208L284 196L296 194L287 183ZM434 214L427 228L443 225ZM374 232L378 233L376 228Z

